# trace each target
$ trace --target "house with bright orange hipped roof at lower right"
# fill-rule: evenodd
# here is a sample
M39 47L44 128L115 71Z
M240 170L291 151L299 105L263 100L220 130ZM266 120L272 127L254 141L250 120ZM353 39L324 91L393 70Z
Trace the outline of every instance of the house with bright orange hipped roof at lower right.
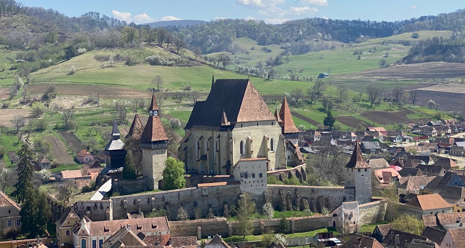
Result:
M452 205L439 194L416 195L411 201L400 206L400 211L421 218L423 214L450 213Z

